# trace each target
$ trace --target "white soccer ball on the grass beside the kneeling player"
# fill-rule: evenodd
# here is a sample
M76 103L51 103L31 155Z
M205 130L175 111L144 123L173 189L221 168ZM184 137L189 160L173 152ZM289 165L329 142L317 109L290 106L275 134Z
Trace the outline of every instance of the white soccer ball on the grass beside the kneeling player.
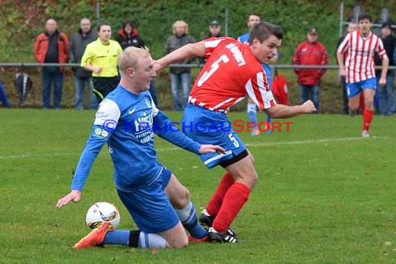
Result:
M107 201L98 201L88 209L85 221L90 229L96 229L104 221L109 221L116 229L119 224L118 209Z

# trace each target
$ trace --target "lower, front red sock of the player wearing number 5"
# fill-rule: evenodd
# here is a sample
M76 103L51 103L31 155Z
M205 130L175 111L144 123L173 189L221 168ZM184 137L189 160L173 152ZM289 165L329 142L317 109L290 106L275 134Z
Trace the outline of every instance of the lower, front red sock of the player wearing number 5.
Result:
M213 221L213 229L219 233L224 233L232 224L236 215L249 199L250 189L247 185L236 182L224 195L223 204ZM208 211L208 213L210 213Z

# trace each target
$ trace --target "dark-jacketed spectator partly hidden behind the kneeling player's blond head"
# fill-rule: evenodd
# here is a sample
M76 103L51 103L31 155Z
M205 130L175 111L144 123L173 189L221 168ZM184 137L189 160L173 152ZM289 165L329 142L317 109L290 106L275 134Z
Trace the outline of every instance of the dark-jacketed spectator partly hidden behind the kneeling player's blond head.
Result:
M133 28L131 20L125 20L122 22L122 28L119 30L115 40L117 40L117 42L121 45L122 50L126 49L127 47L143 48L146 46L145 42L142 40L142 38L140 38L138 31ZM156 104L158 107L156 85L154 80L150 81L149 92L154 104Z

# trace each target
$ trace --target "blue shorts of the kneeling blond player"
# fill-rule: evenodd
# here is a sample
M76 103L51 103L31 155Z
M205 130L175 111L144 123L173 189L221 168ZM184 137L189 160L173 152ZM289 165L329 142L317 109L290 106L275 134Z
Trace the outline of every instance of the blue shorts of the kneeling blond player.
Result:
M179 217L164 192L171 176L172 172L163 167L154 181L139 190L125 192L117 188L119 199L143 233L167 231L179 223Z

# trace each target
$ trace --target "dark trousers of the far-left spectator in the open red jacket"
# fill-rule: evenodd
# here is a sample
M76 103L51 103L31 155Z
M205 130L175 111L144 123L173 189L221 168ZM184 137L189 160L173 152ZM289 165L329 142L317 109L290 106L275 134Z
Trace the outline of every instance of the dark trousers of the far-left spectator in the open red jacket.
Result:
M42 107L49 108L51 85L53 83L53 108L60 108L62 101L63 72L59 67L44 67L42 69Z

